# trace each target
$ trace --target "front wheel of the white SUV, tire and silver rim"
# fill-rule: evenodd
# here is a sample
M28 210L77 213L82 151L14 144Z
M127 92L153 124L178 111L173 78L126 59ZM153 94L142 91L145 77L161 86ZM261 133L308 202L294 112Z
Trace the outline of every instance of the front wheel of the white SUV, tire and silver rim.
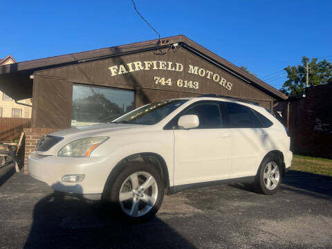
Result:
M124 221L139 223L158 212L164 198L164 183L158 170L144 162L129 162L107 179L102 201Z

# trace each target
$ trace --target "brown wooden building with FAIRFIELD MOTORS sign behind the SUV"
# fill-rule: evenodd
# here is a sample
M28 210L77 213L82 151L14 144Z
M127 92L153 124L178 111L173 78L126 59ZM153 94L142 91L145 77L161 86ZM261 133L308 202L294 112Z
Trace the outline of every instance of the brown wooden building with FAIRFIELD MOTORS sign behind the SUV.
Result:
M214 93L271 111L286 100L183 35L0 66L0 90L14 100L33 98L27 152L42 133L109 122L156 100Z

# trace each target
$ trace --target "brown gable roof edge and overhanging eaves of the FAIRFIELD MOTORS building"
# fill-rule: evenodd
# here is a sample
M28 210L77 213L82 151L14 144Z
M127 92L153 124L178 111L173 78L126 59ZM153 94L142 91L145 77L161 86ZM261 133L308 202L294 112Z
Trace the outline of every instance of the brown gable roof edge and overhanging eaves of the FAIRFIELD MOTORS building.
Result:
M131 53L139 53L147 50L156 49L158 39L149 40L146 42L138 42L133 44L127 44L122 46L113 46L109 48L101 48L96 50L89 50L80 53L71 53L68 55L59 55L54 57L46 57L43 59L34 59L26 62L18 62L15 64L9 64L0 66L0 89L8 91L8 95L20 100L24 98L32 97L32 80L30 75L35 71L44 70L48 68L55 68L58 66L66 66L70 64L79 64L83 62L89 62L98 59L106 59L108 57L116 57L120 55L127 55ZM281 91L266 84L257 77L241 70L239 67L223 59L219 55L212 53L210 50L203 46L193 42L191 39L184 35L176 35L172 37L166 37L160 39L159 48L169 47L171 44L179 44L187 50L196 53L202 59L208 60L212 64L223 68L225 71L232 73L233 75L246 81L248 84L252 84L257 89L264 91L268 95L273 96L277 100L286 100L286 95ZM19 85L17 81L19 80ZM7 84L7 85L6 85ZM8 86L8 84L14 84L15 86ZM17 87L22 88L22 84L26 84L26 91L17 91ZM12 88L16 91L12 91ZM19 93L20 92L20 93ZM29 95L28 95L29 94Z

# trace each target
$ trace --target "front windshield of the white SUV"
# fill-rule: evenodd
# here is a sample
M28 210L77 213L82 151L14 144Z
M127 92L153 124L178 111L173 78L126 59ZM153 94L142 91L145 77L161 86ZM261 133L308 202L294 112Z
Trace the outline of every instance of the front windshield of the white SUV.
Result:
M156 124L169 113L181 107L187 100L163 100L140 107L131 113L114 120L115 123L126 124Z

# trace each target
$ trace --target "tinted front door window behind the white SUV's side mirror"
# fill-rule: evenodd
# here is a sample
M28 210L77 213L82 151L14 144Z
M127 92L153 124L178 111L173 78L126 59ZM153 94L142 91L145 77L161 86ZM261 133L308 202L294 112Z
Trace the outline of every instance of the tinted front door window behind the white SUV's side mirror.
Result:
M181 116L191 114L197 115L199 117L199 127L197 127L199 129L223 127L219 104L195 104L193 107L190 107L190 109L187 109L181 113Z

